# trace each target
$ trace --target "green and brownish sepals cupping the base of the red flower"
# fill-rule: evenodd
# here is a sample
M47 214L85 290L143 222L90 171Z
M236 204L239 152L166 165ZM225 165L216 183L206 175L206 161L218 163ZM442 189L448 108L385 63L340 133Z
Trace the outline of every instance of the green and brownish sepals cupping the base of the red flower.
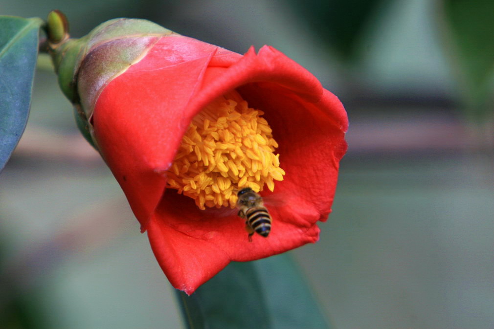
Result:
M141 60L160 37L170 34L173 32L147 20L117 18L98 25L81 39L49 43L60 88L74 104L77 125L91 145L97 146L88 120L100 92ZM56 40L61 34L54 35Z

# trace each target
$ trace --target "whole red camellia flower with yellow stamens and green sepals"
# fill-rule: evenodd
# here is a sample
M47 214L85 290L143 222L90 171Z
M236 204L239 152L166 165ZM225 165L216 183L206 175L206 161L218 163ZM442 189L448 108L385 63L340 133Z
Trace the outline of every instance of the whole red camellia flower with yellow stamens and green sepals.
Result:
M348 121L300 65L270 46L241 55L129 19L52 51L173 287L190 294L230 261L319 239ZM267 238L249 242L236 208L244 187L265 200Z

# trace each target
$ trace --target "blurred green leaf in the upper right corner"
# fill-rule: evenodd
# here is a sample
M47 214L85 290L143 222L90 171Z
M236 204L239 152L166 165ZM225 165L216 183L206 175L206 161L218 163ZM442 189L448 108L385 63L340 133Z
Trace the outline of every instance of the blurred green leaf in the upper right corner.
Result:
M465 103L473 111L473 119L482 121L493 114L489 103L494 74L494 1L443 0L442 5L449 45L453 46L448 50L453 50L454 69L460 70Z

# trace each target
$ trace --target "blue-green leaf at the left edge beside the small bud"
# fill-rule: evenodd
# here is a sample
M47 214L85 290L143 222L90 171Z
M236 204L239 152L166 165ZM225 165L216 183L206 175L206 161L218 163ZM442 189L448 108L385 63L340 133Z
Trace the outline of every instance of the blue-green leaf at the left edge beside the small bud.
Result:
M0 170L26 127L40 18L0 16Z

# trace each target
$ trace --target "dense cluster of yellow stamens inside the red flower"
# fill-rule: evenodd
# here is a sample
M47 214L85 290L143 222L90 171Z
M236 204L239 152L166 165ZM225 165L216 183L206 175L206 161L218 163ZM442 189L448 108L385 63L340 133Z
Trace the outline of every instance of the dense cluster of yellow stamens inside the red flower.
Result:
M247 106L236 91L216 98L190 123L167 171L168 188L205 207L235 207L237 191L250 187L274 190L283 180L278 143L264 112Z

